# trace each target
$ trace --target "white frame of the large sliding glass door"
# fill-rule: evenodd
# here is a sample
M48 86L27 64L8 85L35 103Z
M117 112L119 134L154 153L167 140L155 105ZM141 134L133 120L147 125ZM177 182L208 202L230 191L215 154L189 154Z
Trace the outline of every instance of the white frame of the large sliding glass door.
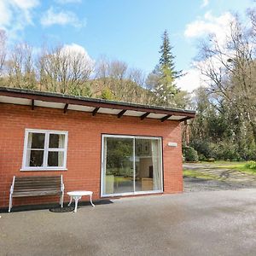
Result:
M104 175L106 171L106 162L104 158L104 139L106 137L115 138L131 138L133 139L133 170L135 170L135 139L148 139L148 140L158 140L160 142L160 190L149 190L149 191L135 191L135 183L133 185L133 191L135 192L124 192L117 194L103 194L104 191ZM150 137L150 136L135 136L135 135L119 135L119 134L102 134L102 168L101 168L101 197L115 197L115 196L126 196L126 195L146 195L146 194L160 194L164 192L164 182L163 182L163 147L162 147L162 137ZM135 177L135 172L133 173Z

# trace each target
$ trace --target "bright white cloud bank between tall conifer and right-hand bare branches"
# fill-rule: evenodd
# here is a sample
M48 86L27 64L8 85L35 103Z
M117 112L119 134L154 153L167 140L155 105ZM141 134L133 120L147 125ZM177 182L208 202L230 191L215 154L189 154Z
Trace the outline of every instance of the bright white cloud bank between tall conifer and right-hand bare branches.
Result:
M187 72L186 75L177 81L178 87L191 92L200 86L207 87L211 84L211 79L202 75L201 71L208 73L209 69L214 68L216 73L219 74L220 70L226 65L226 61L233 57L234 53L224 46L230 38L230 23L234 22L236 22L236 19L229 12L219 16L214 16L211 12L207 12L203 17L198 17L186 26L184 32L186 38L201 38L208 34L215 35L218 46L224 51L225 55L216 54L206 56L207 59L205 60L195 61L192 68L184 71L184 73Z

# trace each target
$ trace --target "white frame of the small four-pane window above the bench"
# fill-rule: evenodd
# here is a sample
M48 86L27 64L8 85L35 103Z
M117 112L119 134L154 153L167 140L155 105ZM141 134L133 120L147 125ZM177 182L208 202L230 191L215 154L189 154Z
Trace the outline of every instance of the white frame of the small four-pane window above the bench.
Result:
M43 166L26 166L26 154L27 154L27 149L28 149L27 148L28 134L30 132L32 132L32 133L44 133L45 134ZM64 135L64 137L65 137L64 148L49 148L49 135L50 134ZM67 139L68 139L68 131L25 129L22 167L21 167L20 171L67 171ZM62 151L62 152L64 152L63 166L47 166L48 153L50 151Z

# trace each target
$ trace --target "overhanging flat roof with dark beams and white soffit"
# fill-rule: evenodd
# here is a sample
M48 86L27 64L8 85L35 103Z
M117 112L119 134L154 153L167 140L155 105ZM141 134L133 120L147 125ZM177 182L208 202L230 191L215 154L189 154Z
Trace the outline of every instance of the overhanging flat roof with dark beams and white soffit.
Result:
M195 111L175 108L148 106L129 102L114 102L81 96L68 96L64 94L44 92L38 90L25 90L17 88L0 87L0 102L28 105L32 109L61 108L64 113L68 110L97 113L108 113L122 116L135 116L140 119L160 119L185 121L195 117Z

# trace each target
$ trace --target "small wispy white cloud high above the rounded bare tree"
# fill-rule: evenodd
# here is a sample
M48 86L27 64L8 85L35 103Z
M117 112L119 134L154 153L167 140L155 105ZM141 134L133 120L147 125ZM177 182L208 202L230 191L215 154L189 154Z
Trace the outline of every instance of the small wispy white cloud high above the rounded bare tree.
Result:
M52 25L70 25L75 27L85 26L85 22L81 22L77 15L70 11L56 12L52 7L47 10L41 19L43 26Z

